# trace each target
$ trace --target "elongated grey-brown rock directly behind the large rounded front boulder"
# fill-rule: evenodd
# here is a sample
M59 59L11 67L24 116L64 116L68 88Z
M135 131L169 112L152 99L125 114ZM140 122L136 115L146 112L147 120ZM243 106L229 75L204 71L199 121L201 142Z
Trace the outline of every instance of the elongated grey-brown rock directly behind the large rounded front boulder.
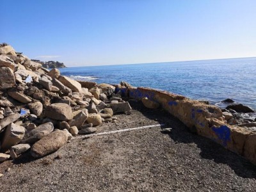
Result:
M40 140L54 129L52 122L39 125L35 129L32 129L30 132L27 132L22 140L22 143L35 143Z

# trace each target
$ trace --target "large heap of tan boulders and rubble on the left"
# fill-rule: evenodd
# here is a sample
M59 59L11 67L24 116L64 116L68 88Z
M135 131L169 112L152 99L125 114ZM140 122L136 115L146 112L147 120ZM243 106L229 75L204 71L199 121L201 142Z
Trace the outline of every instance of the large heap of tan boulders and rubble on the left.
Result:
M116 113L131 113L131 106L115 86L77 82L0 45L0 162L28 150L36 158L51 154L115 122Z

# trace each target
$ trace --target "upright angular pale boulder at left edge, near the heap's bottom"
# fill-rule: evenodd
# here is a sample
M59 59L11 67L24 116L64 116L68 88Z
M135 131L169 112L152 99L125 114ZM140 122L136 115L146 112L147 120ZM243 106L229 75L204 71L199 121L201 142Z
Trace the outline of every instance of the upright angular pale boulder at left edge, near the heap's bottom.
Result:
M25 134L25 128L15 124L9 124L4 132L4 138L2 141L2 151L6 151L13 145L19 143Z

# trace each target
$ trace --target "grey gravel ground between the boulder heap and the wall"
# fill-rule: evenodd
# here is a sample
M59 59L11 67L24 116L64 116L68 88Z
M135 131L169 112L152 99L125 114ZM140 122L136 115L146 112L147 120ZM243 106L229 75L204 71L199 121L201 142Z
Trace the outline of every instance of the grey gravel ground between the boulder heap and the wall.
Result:
M256 166L164 111L130 103L132 115L116 115L118 122L98 132L159 123L172 132L152 127L77 137L42 159L24 154L0 164L0 191L255 191Z

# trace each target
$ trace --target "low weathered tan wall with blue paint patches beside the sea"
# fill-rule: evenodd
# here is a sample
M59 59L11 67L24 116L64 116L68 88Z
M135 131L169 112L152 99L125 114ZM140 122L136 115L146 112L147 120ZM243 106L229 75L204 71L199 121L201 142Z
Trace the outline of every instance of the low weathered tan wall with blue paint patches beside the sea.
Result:
M150 88L118 88L122 96L158 102L162 108L179 118L191 131L220 143L225 148L256 164L256 134L244 128L228 125L220 108Z

